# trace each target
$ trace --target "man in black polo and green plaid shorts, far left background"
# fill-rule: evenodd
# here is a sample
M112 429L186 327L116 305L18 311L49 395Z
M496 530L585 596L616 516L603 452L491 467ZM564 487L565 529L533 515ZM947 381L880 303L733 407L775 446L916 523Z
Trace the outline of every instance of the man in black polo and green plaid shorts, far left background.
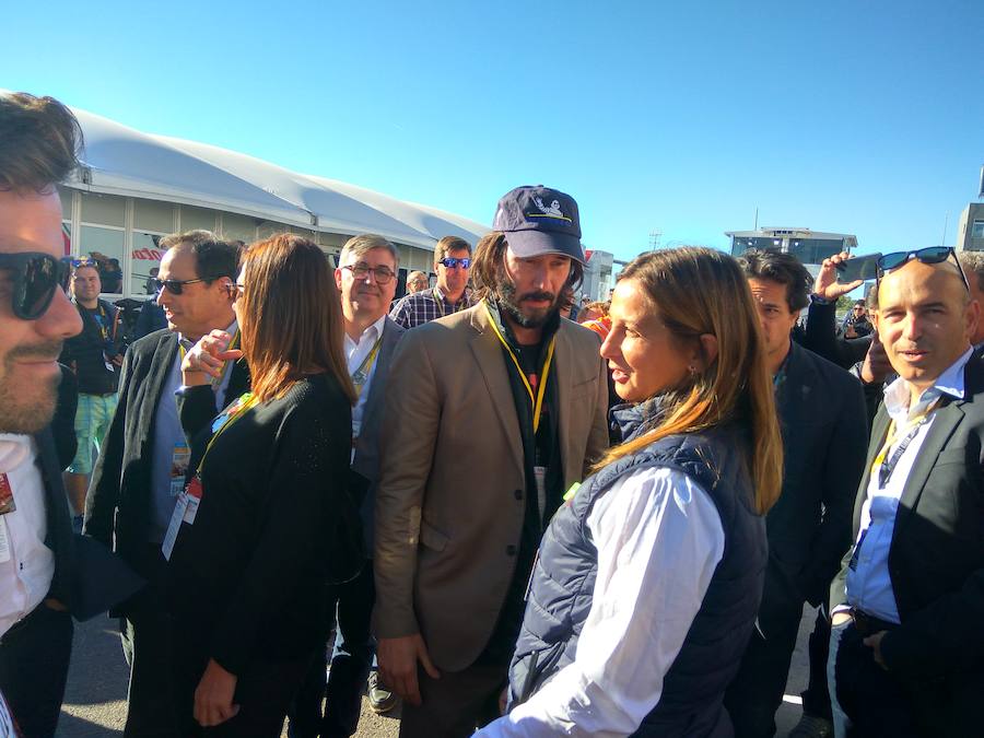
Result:
M81 531L85 512L85 491L92 473L93 446L98 450L116 410L119 366L126 345L119 325L119 311L105 300L96 261L79 261L72 274L72 302L82 317L82 332L65 342L59 360L79 380L79 409L75 437L79 447L66 475L66 489Z

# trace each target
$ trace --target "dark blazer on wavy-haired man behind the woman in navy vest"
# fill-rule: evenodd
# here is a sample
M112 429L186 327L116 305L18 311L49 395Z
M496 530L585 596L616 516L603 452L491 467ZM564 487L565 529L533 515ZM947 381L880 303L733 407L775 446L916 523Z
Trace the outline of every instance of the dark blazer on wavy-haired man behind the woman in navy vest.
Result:
M769 567L759 616L763 632L799 621L819 605L851 546L851 509L867 449L860 383L793 343L776 390L783 434L783 491L765 518Z

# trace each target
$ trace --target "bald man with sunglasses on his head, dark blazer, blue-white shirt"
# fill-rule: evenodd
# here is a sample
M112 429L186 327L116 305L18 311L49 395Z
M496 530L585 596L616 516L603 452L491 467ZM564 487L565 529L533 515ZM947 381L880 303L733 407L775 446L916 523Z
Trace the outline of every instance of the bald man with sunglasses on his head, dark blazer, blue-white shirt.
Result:
M915 256L916 258L912 258ZM831 586L840 736L973 736L984 695L984 365L952 250L911 254L875 325L899 378L875 419L854 547Z

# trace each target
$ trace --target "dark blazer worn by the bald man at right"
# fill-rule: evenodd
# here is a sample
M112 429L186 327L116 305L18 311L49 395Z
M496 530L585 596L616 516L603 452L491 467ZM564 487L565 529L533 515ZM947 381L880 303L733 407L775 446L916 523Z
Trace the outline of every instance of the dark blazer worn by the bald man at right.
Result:
M905 482L889 574L902 624L886 634L881 654L889 671L921 682L953 678L975 684L963 707L980 716L984 694L984 363L974 354L964 370L965 395L935 412ZM885 407L871 433L866 469L888 433ZM868 472L854 507L860 527ZM831 585L831 607L846 604L847 562ZM953 707L956 703L951 705ZM980 726L979 726L980 727ZM968 734L970 735L970 734Z

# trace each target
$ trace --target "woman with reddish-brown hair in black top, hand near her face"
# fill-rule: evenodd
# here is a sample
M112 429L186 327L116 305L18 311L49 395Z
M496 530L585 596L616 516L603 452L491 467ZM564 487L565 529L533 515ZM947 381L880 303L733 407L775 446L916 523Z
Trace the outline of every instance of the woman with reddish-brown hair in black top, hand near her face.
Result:
M354 398L321 250L278 235L243 256L242 351L212 331L183 364L189 481L164 541L181 737L279 736L324 644L328 543L345 519ZM246 358L251 393L211 418L211 380Z

